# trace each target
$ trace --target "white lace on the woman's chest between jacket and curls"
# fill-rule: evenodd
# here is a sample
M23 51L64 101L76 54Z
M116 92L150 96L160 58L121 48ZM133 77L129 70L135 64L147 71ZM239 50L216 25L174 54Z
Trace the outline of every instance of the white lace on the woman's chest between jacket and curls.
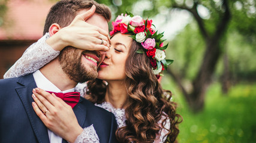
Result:
M125 120L127 120L127 118L125 117L125 109L124 108L115 108L109 102L103 102L101 104L95 104L95 105L97 105L98 107L104 108L107 111L112 112L116 117L116 122L118 123L118 128L126 126Z

